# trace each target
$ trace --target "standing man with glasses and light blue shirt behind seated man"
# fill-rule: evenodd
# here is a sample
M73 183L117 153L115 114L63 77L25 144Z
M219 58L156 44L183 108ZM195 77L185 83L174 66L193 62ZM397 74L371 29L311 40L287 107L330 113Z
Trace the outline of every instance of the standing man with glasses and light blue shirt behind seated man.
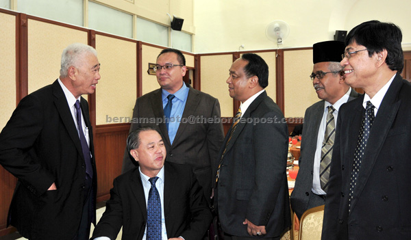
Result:
M224 138L220 105L216 98L184 83L186 70L181 51L164 49L158 55L155 75L161 88L137 98L130 132L140 126L158 130L168 153L166 161L192 166L210 200L217 154ZM132 168L134 161L126 150L123 173Z

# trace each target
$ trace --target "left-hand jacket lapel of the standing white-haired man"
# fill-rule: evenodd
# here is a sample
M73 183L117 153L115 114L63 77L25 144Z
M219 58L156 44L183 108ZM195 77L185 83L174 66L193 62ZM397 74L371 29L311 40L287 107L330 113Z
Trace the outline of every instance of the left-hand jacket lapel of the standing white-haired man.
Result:
M54 81L52 88L53 94L55 96L54 104L58 110L58 113L60 114L60 118L62 119L64 126L66 126L66 130L69 133L71 139L73 140L75 148L77 148L79 155L83 156L82 144L80 144L80 138L75 127L73 116L71 115L69 104L67 103L67 99L64 95L62 87L60 86L60 83L58 83L58 81L56 80Z

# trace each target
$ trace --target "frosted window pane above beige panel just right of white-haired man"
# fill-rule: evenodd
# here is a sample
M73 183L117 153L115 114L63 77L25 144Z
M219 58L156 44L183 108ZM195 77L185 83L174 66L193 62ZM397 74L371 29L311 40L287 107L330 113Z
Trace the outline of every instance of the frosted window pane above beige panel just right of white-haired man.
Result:
M109 34L133 38L132 15L91 1L88 2L88 27Z

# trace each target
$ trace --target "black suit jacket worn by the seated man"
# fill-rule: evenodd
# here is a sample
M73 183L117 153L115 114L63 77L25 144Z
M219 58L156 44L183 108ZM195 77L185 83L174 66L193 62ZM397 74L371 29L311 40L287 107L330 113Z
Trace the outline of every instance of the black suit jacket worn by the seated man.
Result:
M121 226L121 239L142 239L146 228L147 203L138 168L114 179L103 217L92 239L116 239ZM167 237L201 239L208 230L212 215L203 191L187 165L164 163L164 217Z

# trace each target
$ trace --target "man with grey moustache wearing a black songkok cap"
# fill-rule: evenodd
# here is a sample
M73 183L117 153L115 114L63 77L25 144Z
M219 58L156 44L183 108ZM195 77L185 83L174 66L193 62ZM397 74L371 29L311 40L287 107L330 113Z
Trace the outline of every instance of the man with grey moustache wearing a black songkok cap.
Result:
M344 49L344 42L339 41L312 46L314 68L310 77L322 100L308 107L304 116L299 173L291 194L291 208L299 218L307 209L325 204L338 111L358 96L340 75Z

